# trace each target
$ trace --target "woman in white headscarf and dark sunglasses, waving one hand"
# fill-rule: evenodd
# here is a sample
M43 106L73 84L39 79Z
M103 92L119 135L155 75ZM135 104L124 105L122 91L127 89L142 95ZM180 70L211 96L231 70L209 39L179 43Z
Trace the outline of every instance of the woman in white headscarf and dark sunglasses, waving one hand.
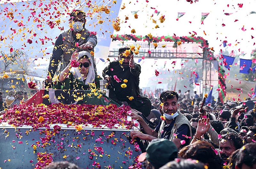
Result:
M89 84L95 83L100 88L100 76L95 76L92 56L87 51L75 51L68 66L60 73L59 81L54 85L56 89L89 89Z

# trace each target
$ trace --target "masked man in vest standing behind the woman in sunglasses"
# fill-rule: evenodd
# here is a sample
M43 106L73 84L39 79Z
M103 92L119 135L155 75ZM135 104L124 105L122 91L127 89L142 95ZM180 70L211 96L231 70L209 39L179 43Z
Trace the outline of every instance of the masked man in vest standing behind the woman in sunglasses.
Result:
M49 87L52 86L52 78L58 68L58 74L64 70L70 62L72 53L77 50L91 52L97 45L97 37L85 28L86 15L83 11L73 10L70 13L69 30L62 32L55 41L52 51L52 57L47 71L47 79L45 79ZM95 72L96 65L92 56L93 67Z

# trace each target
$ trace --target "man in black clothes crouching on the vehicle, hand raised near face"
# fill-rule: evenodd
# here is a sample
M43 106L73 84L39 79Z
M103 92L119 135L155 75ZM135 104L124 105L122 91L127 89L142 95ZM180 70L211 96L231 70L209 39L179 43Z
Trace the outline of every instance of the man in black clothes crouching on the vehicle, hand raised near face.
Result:
M140 95L140 69L140 65L134 63L132 50L122 47L118 50L118 60L111 61L102 76L108 81L112 100L120 105L127 102L131 108L147 117L151 111L151 101Z

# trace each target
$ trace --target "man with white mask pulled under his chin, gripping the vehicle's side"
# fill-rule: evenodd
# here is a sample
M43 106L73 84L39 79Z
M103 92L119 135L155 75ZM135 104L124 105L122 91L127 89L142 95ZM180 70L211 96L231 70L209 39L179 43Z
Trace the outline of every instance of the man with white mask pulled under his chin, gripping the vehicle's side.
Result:
M131 137L148 141L156 137L165 138L172 141L178 149L188 145L191 141L191 125L186 116L178 110L178 99L179 95L175 91L167 90L160 95L160 111L163 117L154 130L136 113L131 113L132 118L140 122L143 131L131 131Z

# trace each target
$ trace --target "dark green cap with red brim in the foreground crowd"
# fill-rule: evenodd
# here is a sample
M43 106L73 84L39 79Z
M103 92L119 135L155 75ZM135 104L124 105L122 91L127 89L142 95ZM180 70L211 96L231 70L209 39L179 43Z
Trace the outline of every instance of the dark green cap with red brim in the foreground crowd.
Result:
M178 149L172 141L154 139L149 143L146 152L140 154L138 161L142 162L147 159L156 168L160 168L177 158L177 153Z

